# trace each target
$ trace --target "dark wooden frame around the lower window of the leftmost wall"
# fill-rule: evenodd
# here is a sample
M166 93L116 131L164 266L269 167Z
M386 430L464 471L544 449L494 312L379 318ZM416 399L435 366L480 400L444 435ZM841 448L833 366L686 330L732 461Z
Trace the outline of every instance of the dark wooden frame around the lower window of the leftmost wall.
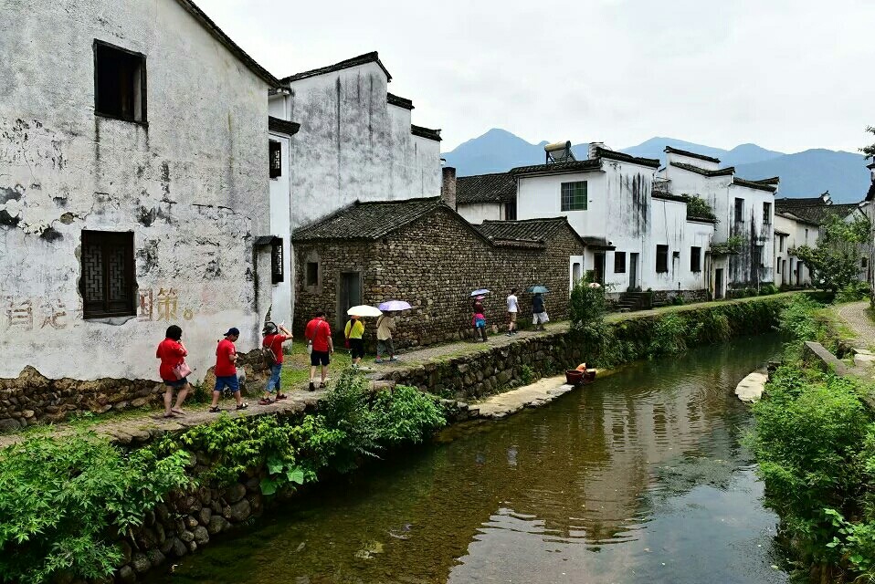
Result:
M103 297L94 299L89 297L87 287L87 279L89 276L88 248L92 245L100 246L101 250L101 271L100 279L103 289ZM110 266L110 250L120 248L123 251L122 261L124 266L122 288L123 298L111 298L110 291L111 282L111 266ZM82 318L88 320L93 318L115 318L115 317L133 317L136 316L136 285L134 284L134 250L133 250L133 232L113 232L113 231L82 231L82 247L81 259L79 266L81 269L81 277L79 278L79 293L82 295Z

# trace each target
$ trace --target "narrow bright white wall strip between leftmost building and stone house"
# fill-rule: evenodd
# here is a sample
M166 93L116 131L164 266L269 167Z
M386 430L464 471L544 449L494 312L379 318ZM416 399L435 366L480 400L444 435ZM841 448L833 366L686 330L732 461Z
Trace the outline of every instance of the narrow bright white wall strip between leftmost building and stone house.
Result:
M291 327L292 295L294 294L294 254L291 253L290 222L290 139L285 134L270 132L270 140L278 141L282 151L282 173L270 179L270 235L282 239L283 281L271 285L270 318Z

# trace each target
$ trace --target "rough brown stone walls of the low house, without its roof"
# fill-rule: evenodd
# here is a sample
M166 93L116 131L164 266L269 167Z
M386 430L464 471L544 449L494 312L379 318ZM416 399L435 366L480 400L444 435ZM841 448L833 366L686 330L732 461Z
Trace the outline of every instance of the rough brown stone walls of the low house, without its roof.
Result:
M543 284L546 309L553 319L568 314L568 257L582 248L570 232L548 242L546 249L491 245L448 208L429 214L382 241L300 242L295 244L297 305L300 330L317 309L324 309L336 331L345 322L338 315L337 283L341 272L360 272L363 304L388 299L407 300L414 307L396 320L397 347L427 345L471 338L471 290L486 287L489 325L506 330L505 297L518 288L520 319L531 322L532 295L526 287ZM304 267L320 264L321 284L305 286ZM366 338L374 339L374 320L366 320Z

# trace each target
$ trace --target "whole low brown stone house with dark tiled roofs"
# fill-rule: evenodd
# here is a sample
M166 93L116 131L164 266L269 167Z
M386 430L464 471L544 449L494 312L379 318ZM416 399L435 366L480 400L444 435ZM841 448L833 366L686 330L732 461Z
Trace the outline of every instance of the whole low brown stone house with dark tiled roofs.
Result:
M438 197L353 203L292 235L296 262L295 328L318 309L336 330L347 308L401 299L414 307L398 320L395 344L427 345L470 333L470 292L486 287L491 325L506 324L505 297L542 284L547 310L567 318L570 258L585 243L564 217L469 224ZM374 324L367 322L374 338Z

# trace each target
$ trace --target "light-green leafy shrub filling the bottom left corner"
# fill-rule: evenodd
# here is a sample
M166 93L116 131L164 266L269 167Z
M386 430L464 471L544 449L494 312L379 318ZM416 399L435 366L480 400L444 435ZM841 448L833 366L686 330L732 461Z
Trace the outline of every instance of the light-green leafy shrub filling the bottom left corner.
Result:
M121 551L111 543L190 479L190 457L123 454L90 433L39 435L7 448L0 464L0 579L26 584L61 574L111 575Z

